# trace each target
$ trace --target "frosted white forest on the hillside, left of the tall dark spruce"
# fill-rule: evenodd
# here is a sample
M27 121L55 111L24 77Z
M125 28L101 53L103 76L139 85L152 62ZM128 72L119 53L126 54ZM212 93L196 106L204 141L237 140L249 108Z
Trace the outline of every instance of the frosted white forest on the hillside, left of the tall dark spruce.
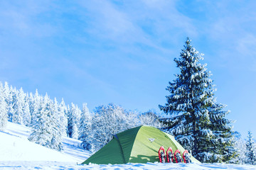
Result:
M121 106L108 104L89 111L87 104L82 109L62 100L51 99L48 94L25 93L23 89L0 83L0 128L7 121L32 128L28 140L61 151L62 137L82 140L81 147L97 151L112 140L112 135L139 125L161 127L158 116L148 111L126 111Z

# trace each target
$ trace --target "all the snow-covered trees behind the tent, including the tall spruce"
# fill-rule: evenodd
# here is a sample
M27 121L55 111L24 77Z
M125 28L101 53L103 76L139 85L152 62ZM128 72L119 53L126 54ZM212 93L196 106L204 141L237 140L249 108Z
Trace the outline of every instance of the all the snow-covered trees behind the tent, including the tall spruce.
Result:
M166 88L170 93L167 103L159 105L166 113L164 118L153 111L127 111L114 103L89 111L86 103L79 108L38 90L28 94L0 82L0 130L5 130L8 121L26 125L31 128L31 142L61 151L63 137L71 137L93 153L118 132L151 125L174 135L201 162L256 164L252 133L244 140L239 132L233 132L234 122L225 118L229 113L225 105L217 103L211 74L202 60L203 55L187 39L180 57L174 60L181 72Z

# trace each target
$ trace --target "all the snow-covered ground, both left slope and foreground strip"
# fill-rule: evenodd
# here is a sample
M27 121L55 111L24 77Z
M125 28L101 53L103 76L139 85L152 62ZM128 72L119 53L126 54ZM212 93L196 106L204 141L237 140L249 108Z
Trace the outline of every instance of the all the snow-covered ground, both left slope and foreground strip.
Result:
M27 137L30 128L9 123L0 131L0 169L256 169L256 166L235 164L108 164L80 165L90 152L79 148L80 141L63 139L63 152L57 152L33 142Z

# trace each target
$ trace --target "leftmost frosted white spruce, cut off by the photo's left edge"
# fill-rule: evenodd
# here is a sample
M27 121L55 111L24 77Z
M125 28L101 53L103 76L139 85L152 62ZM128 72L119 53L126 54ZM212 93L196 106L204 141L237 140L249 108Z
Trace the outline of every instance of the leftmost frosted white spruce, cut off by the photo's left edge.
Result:
M0 130L4 130L6 128L7 122L7 104L4 98L4 87L0 82Z

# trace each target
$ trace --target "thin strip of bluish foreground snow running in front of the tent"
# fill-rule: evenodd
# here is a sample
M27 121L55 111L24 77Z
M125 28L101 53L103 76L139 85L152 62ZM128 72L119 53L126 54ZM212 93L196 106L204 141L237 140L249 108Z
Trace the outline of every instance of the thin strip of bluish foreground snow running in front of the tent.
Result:
M76 165L71 162L0 162L0 169L172 169L172 170L208 170L208 169L256 169L255 166L233 164L115 164L115 165Z

